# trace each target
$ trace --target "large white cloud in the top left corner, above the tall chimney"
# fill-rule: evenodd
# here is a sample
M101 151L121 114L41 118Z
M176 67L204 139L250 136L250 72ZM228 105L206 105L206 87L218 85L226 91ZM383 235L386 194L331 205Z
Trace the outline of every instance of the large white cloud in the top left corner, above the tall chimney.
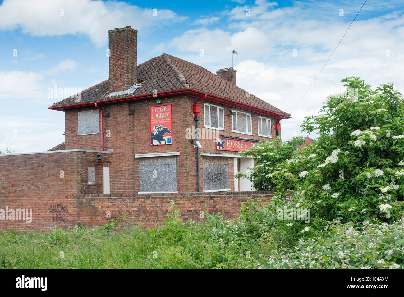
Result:
M147 31L168 21L182 21L168 9L141 8L122 1L4 0L0 5L0 30L21 27L32 36L82 34L97 46L107 43L107 30L131 25Z

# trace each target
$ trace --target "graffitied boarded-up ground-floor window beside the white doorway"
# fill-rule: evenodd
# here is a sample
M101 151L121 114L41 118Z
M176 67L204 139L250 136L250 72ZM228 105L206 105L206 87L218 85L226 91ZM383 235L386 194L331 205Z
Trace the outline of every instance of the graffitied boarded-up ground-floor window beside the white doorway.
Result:
M229 189L229 164L223 157L203 157L203 189Z

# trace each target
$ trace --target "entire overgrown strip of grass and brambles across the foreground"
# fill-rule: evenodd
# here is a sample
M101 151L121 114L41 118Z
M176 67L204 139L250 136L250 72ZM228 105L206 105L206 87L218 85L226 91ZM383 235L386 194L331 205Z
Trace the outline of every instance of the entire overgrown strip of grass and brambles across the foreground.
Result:
M172 202L166 225L156 230L123 225L124 216L93 229L0 232L0 268L404 269L404 217L303 225L278 219L278 203L249 199L238 219L205 213L199 222L183 222Z

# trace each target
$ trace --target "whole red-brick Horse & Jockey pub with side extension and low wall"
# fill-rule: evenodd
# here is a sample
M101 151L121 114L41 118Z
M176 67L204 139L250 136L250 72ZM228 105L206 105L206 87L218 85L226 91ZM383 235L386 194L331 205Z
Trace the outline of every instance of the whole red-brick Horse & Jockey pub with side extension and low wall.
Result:
M0 230L101 224L129 214L152 226L173 199L184 218L236 215L257 192L234 179L254 165L238 152L280 135L290 114L239 88L236 70L213 74L162 54L137 64L137 31L108 31L109 79L54 103L65 142L0 156L0 211L32 209L32 222L1 217Z

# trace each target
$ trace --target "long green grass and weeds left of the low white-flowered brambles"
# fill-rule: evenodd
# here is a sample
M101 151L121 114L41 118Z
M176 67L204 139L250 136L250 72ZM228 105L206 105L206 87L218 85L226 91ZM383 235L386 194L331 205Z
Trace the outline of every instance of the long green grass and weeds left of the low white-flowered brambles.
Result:
M84 227L53 232L0 233L0 268L5 269L162 269L250 268L267 243L222 249L206 224L194 223L181 240L163 230L124 225L105 233ZM241 253L241 255L240 255ZM62 257L63 256L63 257Z

